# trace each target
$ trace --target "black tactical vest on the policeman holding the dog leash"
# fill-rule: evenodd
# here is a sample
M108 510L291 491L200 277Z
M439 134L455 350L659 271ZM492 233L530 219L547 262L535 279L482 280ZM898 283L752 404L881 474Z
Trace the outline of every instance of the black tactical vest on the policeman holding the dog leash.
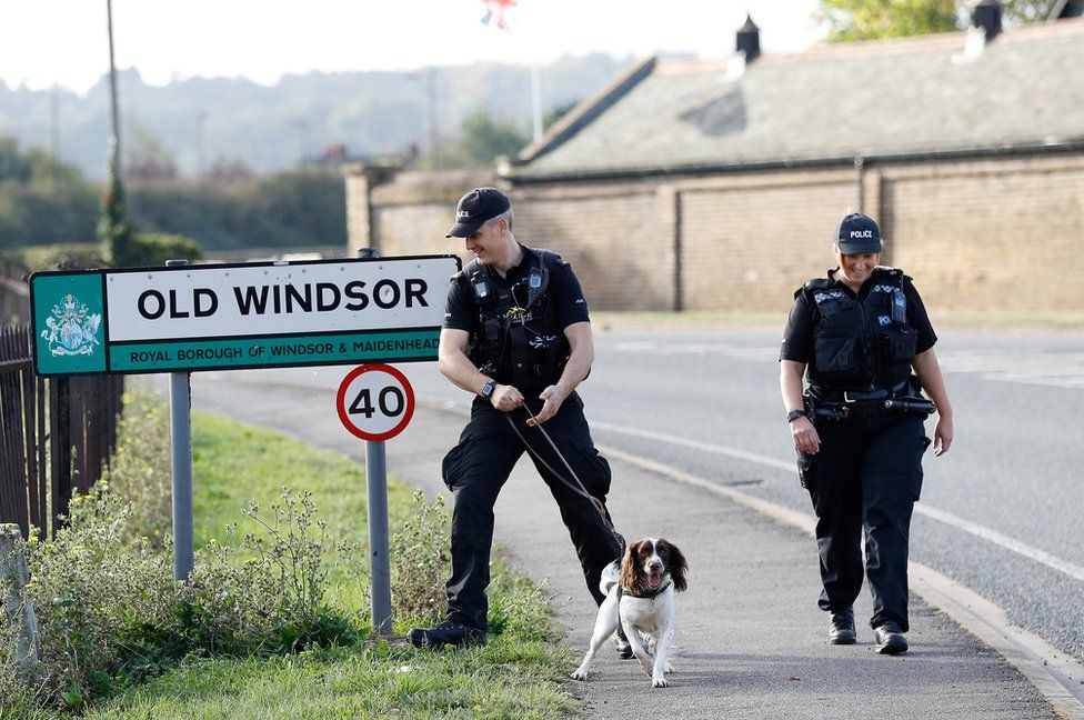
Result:
M466 357L501 384L521 392L554 384L571 354L548 292L551 270L561 256L533 248L523 251L531 263L528 277L506 289L478 260L462 271L478 307Z

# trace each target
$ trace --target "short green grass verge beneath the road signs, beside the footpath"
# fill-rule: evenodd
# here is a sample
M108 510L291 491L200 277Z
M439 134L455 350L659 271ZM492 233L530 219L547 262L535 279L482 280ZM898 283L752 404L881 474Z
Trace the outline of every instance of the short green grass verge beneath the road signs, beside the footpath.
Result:
M281 434L209 413L193 413L198 543L240 546L255 531L239 510L308 490L337 539L363 543L364 473L352 460ZM391 481L392 527L411 512L411 490ZM233 534L227 524L239 523ZM367 611L368 579L332 568L328 600ZM505 568L494 569L491 636L484 648L430 652L370 638L350 648L244 660L187 662L92 708L92 718L559 718L578 713L563 678L571 651L555 642L542 593ZM397 631L412 619L402 618Z

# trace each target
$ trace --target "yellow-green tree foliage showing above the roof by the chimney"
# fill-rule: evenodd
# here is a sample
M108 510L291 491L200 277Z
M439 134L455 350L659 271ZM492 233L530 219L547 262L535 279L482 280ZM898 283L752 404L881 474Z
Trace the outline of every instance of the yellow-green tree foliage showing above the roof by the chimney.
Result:
M961 30L974 0L821 0L814 20L827 24L829 42L876 40ZM1048 0L1004 0L1005 24L1043 20Z

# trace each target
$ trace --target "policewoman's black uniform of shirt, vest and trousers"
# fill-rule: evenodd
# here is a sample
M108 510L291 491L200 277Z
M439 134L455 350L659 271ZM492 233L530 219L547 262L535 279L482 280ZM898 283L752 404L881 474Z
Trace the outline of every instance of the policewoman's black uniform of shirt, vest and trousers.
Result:
M799 456L817 516L819 604L833 616L850 612L862 588L864 531L870 624L906 632L907 539L930 441L924 412L892 411L885 400L919 397L911 363L937 338L911 279L896 269L877 268L857 293L830 272L794 298L780 359L806 363L806 411L821 439L816 454Z

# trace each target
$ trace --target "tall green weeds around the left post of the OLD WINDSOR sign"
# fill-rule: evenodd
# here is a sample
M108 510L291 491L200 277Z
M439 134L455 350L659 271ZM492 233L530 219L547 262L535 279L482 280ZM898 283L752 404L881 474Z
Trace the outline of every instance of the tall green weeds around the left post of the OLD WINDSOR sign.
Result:
M237 551L212 540L187 584L167 552L129 532L131 506L108 482L71 502L52 542L23 544L41 633L42 700L80 709L188 657L285 654L353 644L355 624L323 603L327 538L307 493L283 490ZM28 688L22 688L29 691Z

